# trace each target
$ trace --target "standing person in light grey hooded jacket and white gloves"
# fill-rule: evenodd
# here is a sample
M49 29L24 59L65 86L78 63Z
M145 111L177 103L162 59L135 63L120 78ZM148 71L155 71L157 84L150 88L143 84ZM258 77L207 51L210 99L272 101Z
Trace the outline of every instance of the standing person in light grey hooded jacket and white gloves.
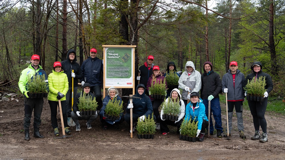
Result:
M195 70L195 66L192 61L186 62L185 71L181 74L178 84L179 88L182 89L181 99L184 101L184 104L187 105L188 99L190 99L190 93L199 93L202 85L201 74Z

